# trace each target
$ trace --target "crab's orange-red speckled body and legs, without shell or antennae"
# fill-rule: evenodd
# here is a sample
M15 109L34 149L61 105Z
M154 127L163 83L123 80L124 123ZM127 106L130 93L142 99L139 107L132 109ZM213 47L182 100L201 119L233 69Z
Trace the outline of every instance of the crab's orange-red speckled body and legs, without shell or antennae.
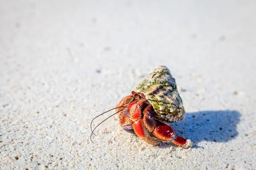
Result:
M175 139L172 127L156 119L157 113L144 94L132 91L132 95L122 98L116 105L120 106L125 107L116 108L116 112L120 111L119 123L123 129L133 129L140 139L149 144L158 145L163 141L171 141L179 146L186 145L186 139L181 136Z

